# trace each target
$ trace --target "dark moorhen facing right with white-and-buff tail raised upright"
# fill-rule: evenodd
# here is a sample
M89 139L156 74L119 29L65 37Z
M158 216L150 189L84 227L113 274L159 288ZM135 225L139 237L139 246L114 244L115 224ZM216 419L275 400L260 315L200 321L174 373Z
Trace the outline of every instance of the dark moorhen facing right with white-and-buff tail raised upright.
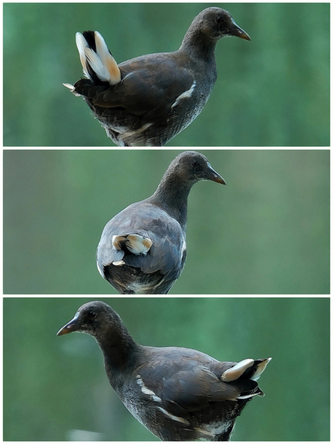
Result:
M77 32L86 79L63 85L82 96L116 145L164 146L203 110L217 79L215 45L226 36L251 40L229 12L206 8L178 51L118 65L99 32Z

